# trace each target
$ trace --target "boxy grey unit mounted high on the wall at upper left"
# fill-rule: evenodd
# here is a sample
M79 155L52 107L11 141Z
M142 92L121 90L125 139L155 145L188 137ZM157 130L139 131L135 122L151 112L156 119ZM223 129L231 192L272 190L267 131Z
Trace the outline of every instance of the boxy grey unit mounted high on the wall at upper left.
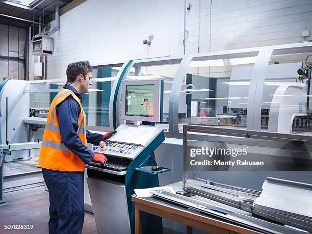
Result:
M48 36L34 36L33 37L33 55L49 56L53 55L54 38Z

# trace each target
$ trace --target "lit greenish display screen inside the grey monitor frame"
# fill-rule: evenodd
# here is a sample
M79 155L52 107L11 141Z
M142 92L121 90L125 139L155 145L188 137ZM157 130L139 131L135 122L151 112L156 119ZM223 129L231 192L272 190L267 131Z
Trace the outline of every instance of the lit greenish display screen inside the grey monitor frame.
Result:
M125 115L154 117L155 85L126 85Z

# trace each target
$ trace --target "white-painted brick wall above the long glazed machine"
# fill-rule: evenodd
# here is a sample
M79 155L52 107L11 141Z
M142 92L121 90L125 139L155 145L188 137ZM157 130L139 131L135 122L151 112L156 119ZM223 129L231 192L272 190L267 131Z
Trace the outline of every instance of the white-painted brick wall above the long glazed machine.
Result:
M187 54L198 46L206 52L301 42L301 30L312 33L311 0L213 0L209 48L210 1L190 2ZM48 79L65 78L73 61L146 58L142 40L151 34L148 57L183 54L183 19L183 0L87 0L61 16Z

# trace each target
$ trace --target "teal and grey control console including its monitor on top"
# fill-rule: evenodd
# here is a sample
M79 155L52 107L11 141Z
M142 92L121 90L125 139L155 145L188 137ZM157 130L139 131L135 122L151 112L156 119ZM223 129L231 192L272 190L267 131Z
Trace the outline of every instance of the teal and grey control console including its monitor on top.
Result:
M143 125L121 124L117 133L93 151L103 153L108 163L87 165L87 183L99 233L134 233L134 189L159 186L154 150L165 140L160 122L163 106L163 81L125 81L122 83L122 116L143 121ZM100 195L100 196L99 196ZM108 212L110 211L110 212ZM143 230L162 233L162 220L145 215ZM118 223L118 225L116 225Z

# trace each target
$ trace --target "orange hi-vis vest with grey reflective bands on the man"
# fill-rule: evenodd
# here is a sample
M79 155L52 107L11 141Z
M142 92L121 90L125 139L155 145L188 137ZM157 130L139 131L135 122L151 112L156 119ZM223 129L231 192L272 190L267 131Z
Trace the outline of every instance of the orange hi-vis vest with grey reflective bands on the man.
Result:
M38 167L57 171L84 171L85 163L62 142L56 107L68 96L72 96L80 105L77 134L82 143L87 145L86 114L81 100L69 89L61 90L51 102L41 143Z

